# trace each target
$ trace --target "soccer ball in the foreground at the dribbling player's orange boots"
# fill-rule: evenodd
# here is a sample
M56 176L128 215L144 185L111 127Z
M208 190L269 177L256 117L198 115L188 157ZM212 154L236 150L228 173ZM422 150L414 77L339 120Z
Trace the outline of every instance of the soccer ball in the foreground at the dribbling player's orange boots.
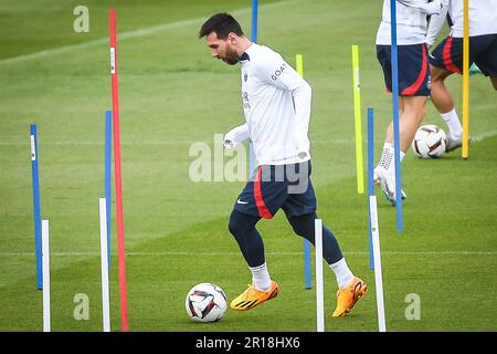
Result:
M215 322L226 312L226 294L213 283L200 283L187 294L187 313L197 322Z

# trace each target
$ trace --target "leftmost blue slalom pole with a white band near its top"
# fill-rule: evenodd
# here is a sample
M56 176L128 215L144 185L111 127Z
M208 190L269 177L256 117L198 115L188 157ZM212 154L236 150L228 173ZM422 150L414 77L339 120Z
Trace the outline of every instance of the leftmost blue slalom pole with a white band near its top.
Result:
M42 240L40 214L40 180L38 173L38 134L36 124L31 124L31 178L33 181L34 248L36 258L36 285L43 289Z

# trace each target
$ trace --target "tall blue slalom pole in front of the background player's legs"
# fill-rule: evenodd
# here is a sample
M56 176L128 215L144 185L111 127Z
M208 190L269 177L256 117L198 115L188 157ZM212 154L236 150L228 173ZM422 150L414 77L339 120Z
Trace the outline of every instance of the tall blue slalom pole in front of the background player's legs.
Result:
M400 166L400 133L399 133L399 66L396 51L396 8L395 1L390 1L391 35L392 35L392 100L393 100L393 148L395 160L395 208L396 208L396 231L400 233L403 229L402 217L402 180Z

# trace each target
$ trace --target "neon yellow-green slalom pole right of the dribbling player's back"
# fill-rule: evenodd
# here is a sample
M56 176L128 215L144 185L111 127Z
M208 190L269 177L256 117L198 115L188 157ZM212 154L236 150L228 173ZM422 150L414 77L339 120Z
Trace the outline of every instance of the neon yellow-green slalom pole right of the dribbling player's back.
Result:
M357 162L357 192L364 194L364 178L362 169L362 126L361 126L361 87L359 80L359 46L352 45L352 76L353 76L353 116L356 121L356 162Z

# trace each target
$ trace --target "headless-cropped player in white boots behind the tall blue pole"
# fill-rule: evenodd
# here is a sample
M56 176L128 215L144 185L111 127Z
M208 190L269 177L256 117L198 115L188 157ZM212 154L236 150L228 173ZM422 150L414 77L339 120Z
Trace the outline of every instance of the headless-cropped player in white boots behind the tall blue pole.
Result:
M443 0L446 1L446 0ZM426 48L427 15L440 13L445 2L435 0L396 0L396 43L399 67L400 159L411 146L424 118L430 96L430 67ZM383 1L383 13L377 32L377 58L383 70L387 90L392 91L390 0ZM395 205L395 167L393 158L393 123L387 128L380 162L374 168L376 183L387 199ZM402 191L402 199L406 196Z

